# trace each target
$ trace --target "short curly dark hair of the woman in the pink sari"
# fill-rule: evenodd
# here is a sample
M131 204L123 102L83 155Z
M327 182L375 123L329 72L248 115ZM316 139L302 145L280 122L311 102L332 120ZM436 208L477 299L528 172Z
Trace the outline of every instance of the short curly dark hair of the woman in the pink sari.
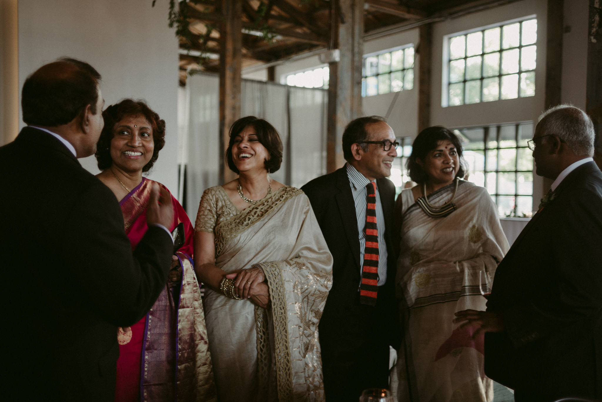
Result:
M126 116L144 116L151 123L152 139L155 143L155 149L149 162L142 168L143 172L151 170L152 165L159 157L159 151L165 145L165 121L152 110L142 99L122 99L119 103L110 105L102 112L102 118L105 120L105 127L102 128L101 137L96 144L96 161L101 171L108 169L113 164L111 158L111 140L115 136L115 124L119 123Z

